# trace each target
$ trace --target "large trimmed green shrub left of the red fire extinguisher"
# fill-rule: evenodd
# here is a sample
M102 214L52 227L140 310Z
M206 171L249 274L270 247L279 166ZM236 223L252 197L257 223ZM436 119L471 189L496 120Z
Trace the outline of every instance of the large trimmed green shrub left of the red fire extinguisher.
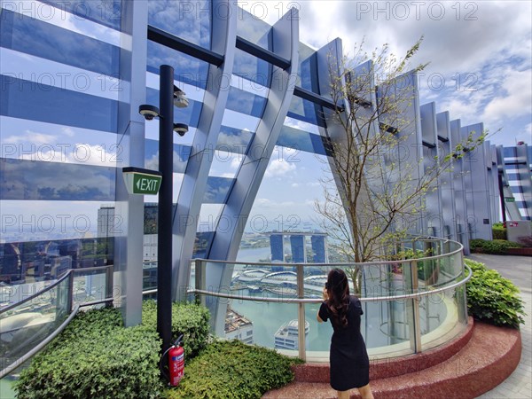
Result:
M158 397L159 351L157 333L123 328L118 309L82 312L20 373L17 397Z

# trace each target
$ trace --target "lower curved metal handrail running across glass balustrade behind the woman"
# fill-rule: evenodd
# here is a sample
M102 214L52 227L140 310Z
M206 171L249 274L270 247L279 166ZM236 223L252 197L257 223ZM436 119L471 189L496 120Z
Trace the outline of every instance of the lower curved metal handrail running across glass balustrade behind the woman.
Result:
M277 266L277 263L276 263L276 266ZM432 295L434 293L442 293L443 291L448 291L452 288L463 286L465 283L467 283L470 280L471 276L473 275L473 271L469 268L469 266L467 265L464 265L464 266L468 270L469 274L463 280L460 280L457 283L454 283L450 286L443 286L435 290L424 291L420 293L404 293L401 295L393 295L393 296L372 296L372 297L366 297L366 298L359 298L359 300L361 302L397 301L397 300L421 298L423 296ZM204 295L215 296L218 298L238 299L241 301L285 302L285 303L321 303L323 301L322 299L319 299L319 298L302 298L302 299L301 298L268 298L264 296L257 297L257 296L249 296L249 295L233 295L231 293L214 293L212 291L199 290L199 289L187 290L186 293L200 293Z

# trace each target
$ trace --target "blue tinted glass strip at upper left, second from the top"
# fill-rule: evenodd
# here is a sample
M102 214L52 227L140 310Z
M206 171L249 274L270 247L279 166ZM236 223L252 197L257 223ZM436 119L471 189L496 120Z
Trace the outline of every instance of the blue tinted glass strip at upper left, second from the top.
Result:
M120 49L112 44L5 9L1 20L2 47L100 74L119 74Z

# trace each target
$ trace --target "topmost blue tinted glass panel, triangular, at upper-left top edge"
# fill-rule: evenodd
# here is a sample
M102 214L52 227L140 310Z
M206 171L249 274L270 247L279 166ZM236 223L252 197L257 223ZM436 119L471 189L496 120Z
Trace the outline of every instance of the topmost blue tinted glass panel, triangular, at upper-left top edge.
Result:
M106 27L120 30L121 0L40 0L59 10L74 14L77 19L92 20Z

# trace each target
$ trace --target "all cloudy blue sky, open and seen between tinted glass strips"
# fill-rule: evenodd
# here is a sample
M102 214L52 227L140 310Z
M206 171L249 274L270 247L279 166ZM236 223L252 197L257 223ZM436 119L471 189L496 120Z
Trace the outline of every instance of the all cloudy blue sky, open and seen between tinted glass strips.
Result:
M484 128L492 133L500 129L489 137L490 142L497 145L515 145L518 141L532 145L531 4L529 1L239 1L239 5L257 19L270 24L282 18L290 7L297 8L301 42L318 49L340 37L345 55L353 54L357 43L364 42L366 51L388 43L390 51L401 56L423 36L419 52L412 60L412 66L429 63L419 79L421 104L435 101L437 112L450 111L451 120L461 119L462 126L483 121ZM46 22L84 35L94 34L106 43L118 45L120 42L119 35L112 28L68 15L60 18L61 15L54 14L59 20L47 19ZM104 31L100 32L101 29ZM79 72L73 66L62 66L35 57L30 63L27 58L4 48L1 55L2 70L7 72ZM85 71L82 70L82 73L85 74ZM148 86L155 87L157 80L152 75L147 74ZM113 81L106 84L108 90L99 90L101 82L98 76L91 79L99 83L94 86L98 90L91 94L116 98L117 94L110 90ZM67 86L66 89L72 88ZM193 98L194 90L185 89L189 97L200 99ZM231 112L226 111L225 116L229 118ZM238 117L231 117L231 121L248 123L247 117L240 113ZM301 121L291 123L298 125ZM2 124L8 132L3 137L6 143L20 146L27 142L42 149L40 153L12 155L15 158L36 157L38 160L98 166L113 166L117 158L114 137L105 132L95 130L88 134L84 129L70 127L58 131L55 125L32 121L18 126L16 119L7 117L2 118ZM157 126L155 122L146 123L147 138L157 138ZM241 128L247 129L245 126ZM312 127L307 129L311 131ZM180 144L190 144L192 137L193 131L180 138ZM66 153L51 150L47 143L65 143ZM80 154L83 154L77 151L79 145L82 145L84 153L91 156L79 160ZM314 201L322 196L319 178L326 168L323 157L318 158L311 153L276 148L249 218L249 225L253 224L255 231L298 230L311 220L315 215ZM234 176L239 161L238 156L228 159L223 155L222 161L213 164L210 175ZM175 174L175 200L181 179L181 174ZM156 198L145 199L146 202L153 200ZM84 234L87 230L84 225L70 224L84 221L85 215L90 215L93 222L90 231L94 231L94 221L102 203L36 200L27 201L27 205L36 215L31 229L34 225L39 227L41 215L47 215L43 223L50 224L52 220L56 230L62 233L62 213L68 209L67 213L72 217L66 222L66 231L74 229ZM18 218L19 224L27 222L22 220L24 215L18 201L4 201L3 207L3 215L8 212ZM221 206L207 205L204 210L202 214L206 215L208 222L211 215L220 212ZM267 221L266 225L264 221ZM47 228L35 230L44 235L49 231Z

